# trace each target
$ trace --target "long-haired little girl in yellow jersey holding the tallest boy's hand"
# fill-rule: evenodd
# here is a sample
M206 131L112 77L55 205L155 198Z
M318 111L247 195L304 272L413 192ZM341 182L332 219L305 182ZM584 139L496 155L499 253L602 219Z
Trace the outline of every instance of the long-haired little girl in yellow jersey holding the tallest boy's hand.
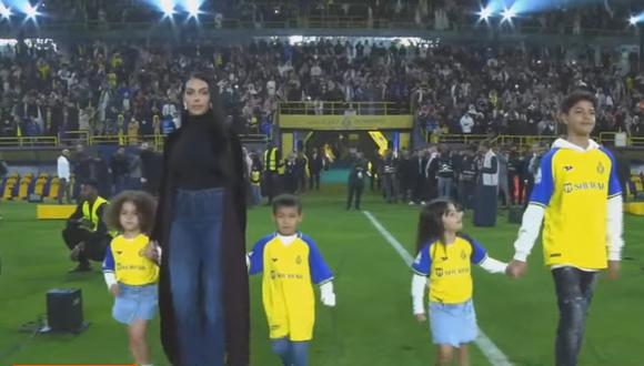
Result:
M423 298L430 288L430 326L436 345L436 365L452 365L454 348L459 365L469 365L467 344L476 338L472 303L472 264L490 273L504 273L506 264L487 256L474 238L461 234L463 212L447 200L423 207L417 228L417 256L412 265L413 312L425 322Z

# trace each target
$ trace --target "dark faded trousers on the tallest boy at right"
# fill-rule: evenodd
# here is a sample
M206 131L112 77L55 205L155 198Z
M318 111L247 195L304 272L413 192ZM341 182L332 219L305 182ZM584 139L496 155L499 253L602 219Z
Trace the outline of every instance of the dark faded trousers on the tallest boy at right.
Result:
M552 275L560 316L556 329L555 365L576 366L597 273L584 272L575 267L561 267L552 270Z

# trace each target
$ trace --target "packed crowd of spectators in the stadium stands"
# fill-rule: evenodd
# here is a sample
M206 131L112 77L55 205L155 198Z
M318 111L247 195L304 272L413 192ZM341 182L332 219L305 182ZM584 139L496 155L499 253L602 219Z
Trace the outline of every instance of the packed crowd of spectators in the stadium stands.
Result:
M325 103L390 102L427 133L554 134L570 90L593 91L598 128L644 135L644 75L628 53L597 49L449 47L373 40L245 45L85 43L28 48L0 61L0 134L165 134L180 125L181 80L219 80L240 133L270 134L281 101L329 113ZM328 105L328 104L326 104ZM364 113L369 113L369 109Z

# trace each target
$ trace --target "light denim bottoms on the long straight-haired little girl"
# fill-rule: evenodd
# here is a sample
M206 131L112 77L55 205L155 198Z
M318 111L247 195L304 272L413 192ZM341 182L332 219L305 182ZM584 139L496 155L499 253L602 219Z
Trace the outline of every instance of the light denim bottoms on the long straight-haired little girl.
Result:
M435 345L460 347L476 339L476 312L472 301L462 304L430 303L430 328Z

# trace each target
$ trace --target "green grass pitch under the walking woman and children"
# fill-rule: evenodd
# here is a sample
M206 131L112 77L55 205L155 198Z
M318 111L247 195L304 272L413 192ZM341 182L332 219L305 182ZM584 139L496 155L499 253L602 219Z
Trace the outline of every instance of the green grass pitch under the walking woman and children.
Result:
M415 366L433 362L427 324L411 314L411 271L384 237L360 212L344 211L344 186L325 186L304 195L302 231L311 235L335 273L338 306L318 304L310 359L313 366ZM369 210L405 247L413 252L419 206L386 205L368 193ZM125 331L110 315L112 305L100 266L90 274L68 274L72 266L60 237L63 222L39 222L36 206L1 203L0 222L0 365L14 363L131 363ZM500 212L495 228L465 231L490 254L509 261L517 225ZM249 210L248 248L272 232L268 207ZM644 365L644 218L625 216L626 248L622 277L598 282L587 322L580 365ZM413 255L413 253L412 253ZM556 304L541 245L530 257L529 274L512 281L474 273L479 325L514 365L552 365ZM46 292L54 287L82 289L89 329L72 336L21 333L19 328L46 313ZM261 305L261 277L251 279L253 366L279 365L270 353ZM159 342L158 319L150 329L155 365L168 365ZM471 347L472 365L489 365Z

